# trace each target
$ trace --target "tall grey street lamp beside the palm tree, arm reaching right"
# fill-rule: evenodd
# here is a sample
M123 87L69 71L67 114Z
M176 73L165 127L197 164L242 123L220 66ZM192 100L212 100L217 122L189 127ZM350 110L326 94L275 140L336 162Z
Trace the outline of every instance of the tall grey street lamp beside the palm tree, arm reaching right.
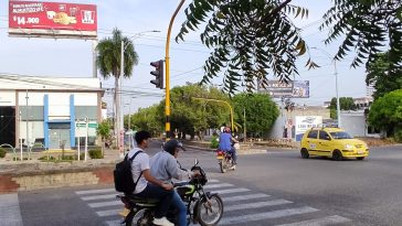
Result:
M150 32L160 32L160 31L144 31L144 32L139 32L134 34L133 36L128 37L129 40L135 40L137 37L140 37L141 35L144 35L145 33L150 33ZM120 157L123 157L123 149L124 149L124 144L121 143L121 130L124 132L124 121L123 121L123 110L120 110L120 106L121 106L121 98L120 98L120 88L121 88L121 83L123 83L123 77L124 77L124 52L126 51L128 43L124 43L124 40L121 40L121 47L120 47L120 76L118 78L118 83L119 85L117 86L117 92L116 92L116 130L117 130L117 143L119 146L119 151L120 151Z

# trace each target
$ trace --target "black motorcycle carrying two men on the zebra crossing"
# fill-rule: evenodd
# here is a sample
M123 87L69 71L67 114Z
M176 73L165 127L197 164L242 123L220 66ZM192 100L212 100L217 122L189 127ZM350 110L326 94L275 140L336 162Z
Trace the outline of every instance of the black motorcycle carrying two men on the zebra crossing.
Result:
M207 175L199 161L195 159L191 171L200 171L199 176L191 179L189 182L174 183L173 186L179 193L181 200L187 206L188 225L200 224L201 226L215 226L223 215L223 202L219 194L204 192L203 186L207 184ZM135 195L117 195L121 200L128 214L121 224L126 226L151 226L155 215L155 208L158 200L140 198ZM167 218L177 224L176 209L169 209Z

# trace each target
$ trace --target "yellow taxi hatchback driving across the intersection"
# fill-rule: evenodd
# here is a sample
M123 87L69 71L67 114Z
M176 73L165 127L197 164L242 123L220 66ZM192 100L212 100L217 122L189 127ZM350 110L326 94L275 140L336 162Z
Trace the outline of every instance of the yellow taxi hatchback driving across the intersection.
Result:
M329 157L337 161L350 158L363 160L369 155L366 142L355 139L339 128L311 128L304 133L300 147L303 159L317 155Z

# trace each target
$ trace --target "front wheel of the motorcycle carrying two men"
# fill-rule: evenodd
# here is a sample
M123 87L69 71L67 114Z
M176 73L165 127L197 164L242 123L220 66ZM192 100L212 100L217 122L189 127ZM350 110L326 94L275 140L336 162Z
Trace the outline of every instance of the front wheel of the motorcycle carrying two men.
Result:
M223 215L223 202L218 194L210 197L211 206L207 201L199 202L197 207L198 222L201 226L215 226Z

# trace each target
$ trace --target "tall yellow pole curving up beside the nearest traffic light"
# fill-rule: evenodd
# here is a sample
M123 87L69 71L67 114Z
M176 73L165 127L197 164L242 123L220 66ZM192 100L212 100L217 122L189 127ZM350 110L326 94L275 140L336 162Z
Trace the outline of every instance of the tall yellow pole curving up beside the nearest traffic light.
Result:
M166 39L166 101L165 101L165 115L166 115L166 123L165 123L165 130L166 130L166 139L170 138L170 57L169 57L169 47L170 47L170 34L171 34L171 28L174 22L174 18L178 14L180 8L183 6L186 0L181 0L178 8L176 9L173 15L170 19L169 29L168 29L168 35Z

